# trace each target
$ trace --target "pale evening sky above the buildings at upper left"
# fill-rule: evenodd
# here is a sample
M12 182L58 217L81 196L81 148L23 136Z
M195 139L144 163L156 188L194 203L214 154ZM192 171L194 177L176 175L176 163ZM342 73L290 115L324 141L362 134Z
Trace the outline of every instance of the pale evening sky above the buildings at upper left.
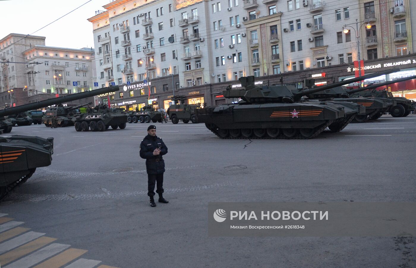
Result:
M10 33L32 34L57 18L65 17L33 35L45 36L51 47L94 48L92 23L87 19L110 0L0 0L0 39Z

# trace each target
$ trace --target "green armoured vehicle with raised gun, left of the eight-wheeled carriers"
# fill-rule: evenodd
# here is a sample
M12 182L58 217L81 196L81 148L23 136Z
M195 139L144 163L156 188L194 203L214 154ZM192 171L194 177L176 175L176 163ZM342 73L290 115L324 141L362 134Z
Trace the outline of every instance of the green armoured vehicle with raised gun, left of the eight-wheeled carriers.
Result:
M50 107L46 110L45 116L42 119L42 123L45 124L46 127L52 127L52 120L56 120L58 127L74 126L75 117L80 113L79 108L87 106L89 104L91 104L91 102L75 107L64 107L62 105ZM48 114L56 114L56 116L50 116Z

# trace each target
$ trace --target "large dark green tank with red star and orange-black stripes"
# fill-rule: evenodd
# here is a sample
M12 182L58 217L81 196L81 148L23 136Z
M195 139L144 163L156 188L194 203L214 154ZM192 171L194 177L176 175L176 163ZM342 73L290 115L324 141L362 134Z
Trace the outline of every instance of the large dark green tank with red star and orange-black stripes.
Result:
M350 82L377 77L367 74ZM355 114L364 112L359 104L302 100L303 96L345 84L337 82L312 89L294 86L255 86L254 77L241 77L243 89L230 86L223 91L226 98L241 98L237 104L196 109L198 122L222 139L311 139L333 124L345 124L345 110L356 107ZM361 111L360 111L361 109Z

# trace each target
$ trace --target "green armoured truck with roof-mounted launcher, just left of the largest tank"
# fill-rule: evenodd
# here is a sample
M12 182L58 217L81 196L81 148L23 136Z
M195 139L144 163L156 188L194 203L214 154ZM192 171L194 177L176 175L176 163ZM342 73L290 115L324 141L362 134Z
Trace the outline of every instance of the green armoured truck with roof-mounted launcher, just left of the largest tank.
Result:
M195 109L201 108L201 104L186 104L186 96L173 96L173 104L166 111L173 124L178 124L179 120L188 124L189 120L196 123Z

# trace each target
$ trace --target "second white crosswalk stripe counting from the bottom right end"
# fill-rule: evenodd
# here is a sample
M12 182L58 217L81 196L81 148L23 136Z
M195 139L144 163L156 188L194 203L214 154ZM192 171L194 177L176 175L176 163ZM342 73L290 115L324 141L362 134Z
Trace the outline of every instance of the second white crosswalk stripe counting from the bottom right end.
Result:
M69 247L70 245L53 243L49 246L46 246L45 248L42 248L26 256L25 258L21 258L20 260L15 261L14 263L6 265L5 268L29 268Z

